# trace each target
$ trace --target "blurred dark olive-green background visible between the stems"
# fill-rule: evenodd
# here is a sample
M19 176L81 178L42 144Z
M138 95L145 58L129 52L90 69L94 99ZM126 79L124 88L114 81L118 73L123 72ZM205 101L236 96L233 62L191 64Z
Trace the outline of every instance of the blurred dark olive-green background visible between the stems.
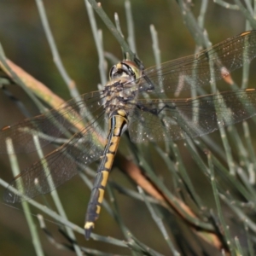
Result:
M79 92L82 94L97 90L96 85L100 83L98 57L84 2L79 0L44 2L49 25L54 34L61 59L67 68L67 72L76 82ZM195 16L199 14L199 2L196 1L191 6ZM121 26L126 37L124 4L125 1L121 0L102 1L103 9L112 20L115 12L119 14ZM158 32L161 61L169 61L195 52L195 41L186 26L183 25L180 9L175 1L131 1L131 9L135 25L137 53L145 67L154 66L152 39L149 32L151 24L154 24ZM97 15L96 20L98 27L102 29L104 49L121 60L122 53L119 44ZM240 12L224 9L210 1L207 8L205 27L212 44L217 44L225 38L245 31L245 20ZM36 79L47 84L51 90L63 99L68 100L71 97L55 68L34 1L0 1L0 42L3 45L5 54L11 61L24 68L27 73L32 74ZM106 71L109 68L110 65L106 67ZM38 113L30 99L18 86L14 85L10 90L22 102L26 103L26 107L30 109L32 114ZM24 118L13 102L1 93L1 90L0 117L0 126L13 124ZM214 135L212 136L214 137ZM184 156L184 159L186 157ZM31 165L33 160L33 154L24 154L20 157L20 166ZM157 163L154 163L154 165L157 165ZM205 193L207 198L207 192L205 191L207 191L209 184L205 183L203 179L199 180L197 176L192 176L193 173L196 173L196 167L193 160L189 159L189 156L186 165L191 169L192 179L195 183L199 183L197 186L198 192ZM9 160L6 156L1 156L0 175L6 181L10 181L12 178ZM113 170L111 178L127 185L125 177L116 170ZM86 202L89 200L90 190L84 189L79 177L74 177L70 182L62 185L58 191L61 199L63 199L69 219L83 226ZM2 195L3 188L0 188L0 192ZM146 244L154 244L154 249L159 250L160 253L165 254L168 252L157 236L154 235L157 234L157 229L154 225L147 226L148 230L145 232L143 223L147 224L147 221L150 223L150 216L144 205L125 197L120 197L119 200L119 210L123 214L125 224L127 226L132 224L132 231L135 234L143 232L143 239ZM212 203L207 201L207 204L211 206ZM3 201L0 205L0 255L34 255L30 233L23 212L15 207L9 207ZM20 208L20 206L17 207ZM34 219L37 222L37 218ZM49 222L48 225L55 238L58 241L63 241L55 224ZM104 210L102 210L101 218L96 222L96 232L106 236L122 237L116 224L113 223L113 220L108 217L108 213ZM57 250L44 237L43 231L39 231L39 233L42 237L45 254L73 254ZM99 245L94 241L85 241L84 237L79 237L79 241L84 247L95 246L97 249L108 250L106 244ZM112 252L111 248L109 248L109 252ZM127 251L122 250L120 252L127 253Z

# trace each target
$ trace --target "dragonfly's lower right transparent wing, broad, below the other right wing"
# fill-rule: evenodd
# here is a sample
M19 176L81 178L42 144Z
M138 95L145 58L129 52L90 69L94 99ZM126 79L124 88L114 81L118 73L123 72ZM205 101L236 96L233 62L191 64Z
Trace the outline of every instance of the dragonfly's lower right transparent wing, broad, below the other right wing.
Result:
M138 100L131 112L131 141L199 137L256 114L256 90L235 90L181 100Z

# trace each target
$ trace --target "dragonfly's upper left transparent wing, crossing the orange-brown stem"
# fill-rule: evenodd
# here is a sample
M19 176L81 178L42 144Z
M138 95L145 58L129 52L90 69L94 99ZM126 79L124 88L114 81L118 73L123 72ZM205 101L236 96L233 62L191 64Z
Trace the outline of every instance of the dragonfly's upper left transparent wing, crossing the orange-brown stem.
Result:
M85 118L89 118L91 114L95 116L94 113L101 108L104 99L102 91L90 92L81 97L82 102L72 99L48 113L25 119L16 125L3 127L0 131L0 154L7 154L5 141L8 137L13 140L15 153L28 153L37 150L32 139L34 135L39 137L41 147L44 147L56 137L61 137L62 134L70 131L74 125L82 130L81 116ZM44 136L45 134L47 136Z

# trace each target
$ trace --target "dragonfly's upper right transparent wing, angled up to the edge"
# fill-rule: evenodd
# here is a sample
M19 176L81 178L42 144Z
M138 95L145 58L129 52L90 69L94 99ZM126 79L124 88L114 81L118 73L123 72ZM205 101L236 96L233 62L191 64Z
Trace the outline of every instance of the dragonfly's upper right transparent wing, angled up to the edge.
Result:
M243 32L228 38L197 55L190 55L174 61L162 63L160 69L151 67L144 70L148 77L140 79L139 90L181 91L199 87L223 79L232 71L251 61L256 56L256 31ZM212 60L212 74L210 61ZM148 80L152 84L148 84ZM153 86L154 87L153 87Z

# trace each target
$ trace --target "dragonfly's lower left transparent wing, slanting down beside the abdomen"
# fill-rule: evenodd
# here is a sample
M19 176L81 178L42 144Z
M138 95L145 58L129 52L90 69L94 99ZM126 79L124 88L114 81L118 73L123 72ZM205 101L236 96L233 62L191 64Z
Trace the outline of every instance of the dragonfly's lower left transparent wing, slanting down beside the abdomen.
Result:
M68 143L57 148L15 177L9 187L15 187L29 198L49 193L78 172L79 165L89 165L102 156L107 134L99 126L105 123L103 108L98 109L99 118L85 125ZM96 133L96 131L100 131ZM22 201L9 187L4 200L9 203Z

